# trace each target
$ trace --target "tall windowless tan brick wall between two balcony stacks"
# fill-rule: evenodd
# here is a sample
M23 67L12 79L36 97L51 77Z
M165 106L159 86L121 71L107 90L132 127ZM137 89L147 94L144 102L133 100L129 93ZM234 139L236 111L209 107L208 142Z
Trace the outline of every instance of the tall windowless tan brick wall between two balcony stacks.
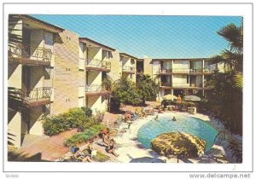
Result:
M79 106L79 36L64 31L55 43L54 114Z

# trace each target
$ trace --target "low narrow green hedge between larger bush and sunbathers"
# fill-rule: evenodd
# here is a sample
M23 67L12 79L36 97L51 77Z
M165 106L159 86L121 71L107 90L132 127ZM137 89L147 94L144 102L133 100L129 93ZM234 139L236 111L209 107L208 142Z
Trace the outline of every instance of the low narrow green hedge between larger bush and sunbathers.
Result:
M72 147L88 141L91 137L98 135L100 133L100 130L102 130L102 127L102 124L92 125L87 130L84 130L84 132L80 132L67 138L67 140L64 141L64 145L67 147Z

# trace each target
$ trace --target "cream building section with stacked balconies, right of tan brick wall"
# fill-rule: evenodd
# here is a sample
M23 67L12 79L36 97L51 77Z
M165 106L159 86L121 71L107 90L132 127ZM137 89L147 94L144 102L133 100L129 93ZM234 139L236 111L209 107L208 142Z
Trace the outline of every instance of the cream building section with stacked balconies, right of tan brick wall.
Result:
M85 104L80 105L90 107L93 113L107 111L109 91L102 82L112 69L115 49L89 38L79 38L79 47L79 59L85 64Z

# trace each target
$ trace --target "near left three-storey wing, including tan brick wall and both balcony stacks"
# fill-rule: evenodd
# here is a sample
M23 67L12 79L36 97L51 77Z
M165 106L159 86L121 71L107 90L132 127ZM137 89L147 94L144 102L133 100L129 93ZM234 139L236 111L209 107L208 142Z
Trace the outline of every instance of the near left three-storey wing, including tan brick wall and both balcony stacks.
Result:
M102 87L102 81L111 70L113 55L119 63L119 54L114 51L29 15L10 15L11 142L20 147L27 134L43 136L40 119L44 115L73 107L90 107L93 113L106 111L109 91Z

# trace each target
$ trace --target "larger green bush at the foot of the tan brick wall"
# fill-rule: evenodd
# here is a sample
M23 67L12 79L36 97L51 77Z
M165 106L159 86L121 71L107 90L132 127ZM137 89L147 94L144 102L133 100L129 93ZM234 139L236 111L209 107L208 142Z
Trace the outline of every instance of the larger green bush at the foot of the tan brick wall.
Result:
M44 134L47 136L55 136L74 128L83 131L98 123L96 117L88 117L81 108L69 109L67 113L43 118Z

